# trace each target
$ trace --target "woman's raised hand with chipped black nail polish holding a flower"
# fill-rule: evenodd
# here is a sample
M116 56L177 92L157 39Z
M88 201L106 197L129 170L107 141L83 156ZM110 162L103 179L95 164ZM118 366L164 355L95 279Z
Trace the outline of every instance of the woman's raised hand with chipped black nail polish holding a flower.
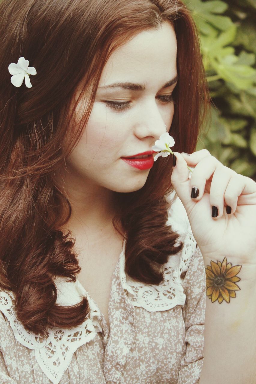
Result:
M223 166L206 149L190 156L174 154L171 182L203 257L256 265L256 183ZM187 166L194 167L191 179ZM199 190L196 198L191 198L192 187ZM213 206L218 208L217 217L212 217Z

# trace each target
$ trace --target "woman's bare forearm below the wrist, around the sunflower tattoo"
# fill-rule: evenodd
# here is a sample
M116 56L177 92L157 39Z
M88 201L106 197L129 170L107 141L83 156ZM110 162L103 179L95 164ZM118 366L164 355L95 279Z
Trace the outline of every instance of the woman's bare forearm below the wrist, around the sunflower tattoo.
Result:
M242 265L238 276L240 290L229 303L206 299L200 384L255 384L256 266Z

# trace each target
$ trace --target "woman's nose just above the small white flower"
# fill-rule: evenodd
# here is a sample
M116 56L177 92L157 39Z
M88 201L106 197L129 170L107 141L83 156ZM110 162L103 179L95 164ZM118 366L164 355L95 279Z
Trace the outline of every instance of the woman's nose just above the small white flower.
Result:
M140 109L140 118L135 127L135 135L140 139L153 137L157 140L161 134L168 131L166 125L169 124L170 117L168 121L165 120L155 102L147 103Z

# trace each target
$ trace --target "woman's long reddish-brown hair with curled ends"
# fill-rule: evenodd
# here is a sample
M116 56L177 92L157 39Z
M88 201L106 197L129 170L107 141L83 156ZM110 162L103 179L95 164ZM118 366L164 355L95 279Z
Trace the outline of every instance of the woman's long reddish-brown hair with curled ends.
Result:
M56 175L86 129L108 57L140 31L172 23L176 151L195 149L207 90L196 29L179 0L2 0L0 15L0 284L15 294L25 328L47 334L48 326L76 326L89 313L86 298L73 307L56 305L55 277L75 281L80 271L75 240L58 229L68 222L71 205ZM8 64L20 56L37 69L30 89L10 83ZM75 125L81 79L81 95L88 97ZM163 280L159 267L182 247L166 225L171 171L171 157L160 159L143 188L116 193L120 215L113 223L119 220L126 237L125 271L148 284Z

